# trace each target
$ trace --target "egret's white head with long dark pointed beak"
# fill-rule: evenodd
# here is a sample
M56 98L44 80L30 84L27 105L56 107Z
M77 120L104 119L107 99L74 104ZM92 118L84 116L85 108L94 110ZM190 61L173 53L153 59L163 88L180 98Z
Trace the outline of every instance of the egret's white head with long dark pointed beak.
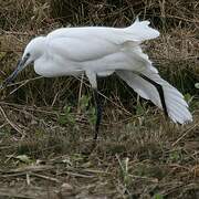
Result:
M4 87L12 82L27 65L34 62L44 53L44 41L45 36L38 36L29 42L21 60L18 62L15 71L3 82L1 87Z

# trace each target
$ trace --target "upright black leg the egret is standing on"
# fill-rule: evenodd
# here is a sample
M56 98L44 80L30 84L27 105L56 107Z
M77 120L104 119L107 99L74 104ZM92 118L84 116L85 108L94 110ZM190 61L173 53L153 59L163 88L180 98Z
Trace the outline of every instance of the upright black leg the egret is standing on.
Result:
M95 123L95 134L93 139L96 140L98 137L98 128L102 119L102 105L97 90L94 90L94 97L96 103L96 123Z

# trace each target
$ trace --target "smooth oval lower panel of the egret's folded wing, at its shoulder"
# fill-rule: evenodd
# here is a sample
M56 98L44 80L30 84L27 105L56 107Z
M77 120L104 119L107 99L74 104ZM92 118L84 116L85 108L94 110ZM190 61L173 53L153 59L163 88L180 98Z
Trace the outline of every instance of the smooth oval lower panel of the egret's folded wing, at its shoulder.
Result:
M51 53L74 62L98 60L119 51L116 44L97 38L53 38L48 45Z

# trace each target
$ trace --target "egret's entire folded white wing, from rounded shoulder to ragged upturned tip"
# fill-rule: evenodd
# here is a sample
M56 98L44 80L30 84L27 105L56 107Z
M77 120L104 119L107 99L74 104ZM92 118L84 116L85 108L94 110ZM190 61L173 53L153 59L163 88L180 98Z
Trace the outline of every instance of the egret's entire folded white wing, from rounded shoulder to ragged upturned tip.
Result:
M84 62L119 52L128 43L134 48L144 40L157 38L159 32L149 28L148 24L148 21L135 21L124 29L62 28L48 34L46 39L50 49L54 52L70 60Z

